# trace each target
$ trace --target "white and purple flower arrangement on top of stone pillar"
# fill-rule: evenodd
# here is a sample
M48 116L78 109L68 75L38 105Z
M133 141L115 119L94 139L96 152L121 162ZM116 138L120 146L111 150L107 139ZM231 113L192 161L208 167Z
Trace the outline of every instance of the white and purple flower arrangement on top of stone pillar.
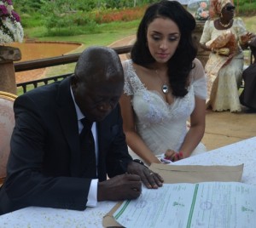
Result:
M0 45L22 42L24 36L20 16L11 0L0 0Z

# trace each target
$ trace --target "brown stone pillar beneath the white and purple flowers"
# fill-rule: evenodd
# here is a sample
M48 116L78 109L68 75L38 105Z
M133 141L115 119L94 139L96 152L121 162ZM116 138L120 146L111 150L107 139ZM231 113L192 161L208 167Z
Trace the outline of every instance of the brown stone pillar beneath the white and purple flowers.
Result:
M0 91L17 94L14 61L20 59L19 48L0 46Z

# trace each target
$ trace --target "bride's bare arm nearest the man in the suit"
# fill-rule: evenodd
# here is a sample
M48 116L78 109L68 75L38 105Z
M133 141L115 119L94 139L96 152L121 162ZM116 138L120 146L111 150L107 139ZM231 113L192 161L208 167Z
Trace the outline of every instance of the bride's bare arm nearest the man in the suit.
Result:
M126 137L126 143L130 146L137 156L150 165L152 162L160 163L157 157L154 156L152 151L144 143L143 139L137 134L134 121L134 111L131 105L131 96L123 94L119 100L121 106L121 113L123 117L123 128Z

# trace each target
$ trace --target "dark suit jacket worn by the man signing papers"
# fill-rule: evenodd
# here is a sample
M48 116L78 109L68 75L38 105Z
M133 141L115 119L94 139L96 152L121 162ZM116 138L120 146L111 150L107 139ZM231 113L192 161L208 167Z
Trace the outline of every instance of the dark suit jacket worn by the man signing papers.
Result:
M0 214L27 206L84 210L90 179L80 176L79 128L70 78L20 95L15 128L0 191ZM127 151L119 105L98 133L98 178L126 172Z

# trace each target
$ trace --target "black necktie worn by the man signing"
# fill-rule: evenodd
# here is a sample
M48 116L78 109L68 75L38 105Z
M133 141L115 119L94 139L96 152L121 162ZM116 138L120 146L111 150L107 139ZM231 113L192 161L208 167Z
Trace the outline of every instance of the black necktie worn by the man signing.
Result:
M86 117L81 119L84 125L79 139L81 151L81 175L86 178L96 179L96 153L95 142L91 132L92 122Z

